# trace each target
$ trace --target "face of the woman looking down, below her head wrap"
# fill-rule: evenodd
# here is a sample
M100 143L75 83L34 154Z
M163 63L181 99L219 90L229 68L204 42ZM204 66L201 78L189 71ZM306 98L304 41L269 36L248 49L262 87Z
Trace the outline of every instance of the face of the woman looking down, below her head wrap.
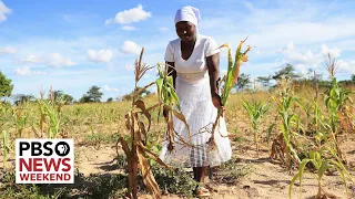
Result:
M196 27L189 21L180 21L175 24L176 34L183 42L192 42L196 38Z

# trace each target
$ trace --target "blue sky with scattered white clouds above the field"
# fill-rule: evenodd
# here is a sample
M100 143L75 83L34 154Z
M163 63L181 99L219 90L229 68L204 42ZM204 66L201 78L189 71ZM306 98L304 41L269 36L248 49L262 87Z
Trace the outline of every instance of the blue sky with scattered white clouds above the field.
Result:
M275 73L286 63L297 72L325 74L327 53L341 63L338 78L355 73L353 0L0 0L0 70L13 94L39 96L41 87L80 98L98 85L104 96L133 90L132 66L142 46L155 65L176 38L173 18L183 6L200 9L200 32L232 49L248 35L256 46L242 72L253 77ZM221 72L226 52L221 53ZM155 78L152 70L141 81Z

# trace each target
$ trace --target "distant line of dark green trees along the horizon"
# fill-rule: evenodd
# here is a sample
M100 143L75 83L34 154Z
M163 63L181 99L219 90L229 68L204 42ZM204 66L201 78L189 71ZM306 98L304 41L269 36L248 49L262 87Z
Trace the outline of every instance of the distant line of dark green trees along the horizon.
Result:
M280 71L275 72L273 75L268 76L257 76L254 78L254 82L251 80L250 74L242 73L239 78L237 83L235 84L235 88L240 92L243 92L246 88L253 87L252 83L261 84L265 90L272 88L274 85L272 85L272 81L277 81L281 77L291 77L298 84L312 84L315 81L320 86L322 85L328 85L331 82L327 80L324 80L321 74L316 74L313 70L308 70L308 74L304 77L302 77L300 74L296 74L295 69L291 64L286 64L285 67L281 69ZM355 74L352 74L351 80L339 81L342 84L355 84ZM140 87L138 87L140 90ZM4 98L12 98L13 104L18 105L19 103L23 102L31 102L36 101L36 97L33 95L27 95L27 94L12 94L13 91L13 84L10 78L8 78L2 72L0 71L0 101ZM129 94L123 95L122 97L118 97L118 101L131 101L132 95L135 91L132 91ZM150 95L150 91L142 91L139 96L143 97L144 95ZM50 94L49 94L50 95ZM74 97L71 95L64 93L63 91L53 91L53 98L54 101L63 101L65 104L73 104L73 103L98 103L101 102L101 98L103 96L103 93L101 92L101 88L97 85L91 86L85 94L79 101L75 101ZM108 98L106 102L113 102L113 98Z

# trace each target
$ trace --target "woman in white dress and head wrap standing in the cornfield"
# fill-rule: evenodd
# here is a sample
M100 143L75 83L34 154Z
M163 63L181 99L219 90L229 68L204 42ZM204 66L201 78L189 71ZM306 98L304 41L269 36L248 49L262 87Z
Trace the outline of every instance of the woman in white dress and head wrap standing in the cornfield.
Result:
M209 166L216 166L231 159L232 149L226 135L224 118L221 117L216 128L216 153L209 150L206 144L211 138L211 128L221 107L217 90L220 54L215 41L199 33L200 11L193 7L183 7L175 14L175 30L179 39L168 44L165 62L173 66L172 75L182 113L190 132L191 145L179 143L174 150L168 149L169 142L163 143L161 159L175 167L192 167L194 179L200 182L197 196L209 196L204 188L204 178ZM183 122L173 119L174 130L185 140L189 132ZM209 129L209 130L205 130Z

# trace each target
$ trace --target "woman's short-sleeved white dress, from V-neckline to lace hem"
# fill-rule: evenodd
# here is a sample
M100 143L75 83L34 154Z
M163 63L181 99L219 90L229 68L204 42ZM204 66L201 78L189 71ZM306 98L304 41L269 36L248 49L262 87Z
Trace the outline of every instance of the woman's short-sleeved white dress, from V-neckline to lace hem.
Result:
M216 166L232 157L230 139L221 136L227 135L223 117L215 129L217 150L211 151L206 144L217 115L217 109L211 100L206 57L219 52L215 41L201 34L197 35L194 50L187 60L183 60L181 56L181 39L171 41L166 48L165 61L174 62L178 73L176 94L180 98L182 113L190 126L190 144L194 146L186 146L176 138L174 150L169 151L169 142L165 138L160 158L168 165L173 167ZM189 132L184 123L176 117L173 118L173 123L174 130L182 138L189 140ZM205 130L206 128L210 133Z

